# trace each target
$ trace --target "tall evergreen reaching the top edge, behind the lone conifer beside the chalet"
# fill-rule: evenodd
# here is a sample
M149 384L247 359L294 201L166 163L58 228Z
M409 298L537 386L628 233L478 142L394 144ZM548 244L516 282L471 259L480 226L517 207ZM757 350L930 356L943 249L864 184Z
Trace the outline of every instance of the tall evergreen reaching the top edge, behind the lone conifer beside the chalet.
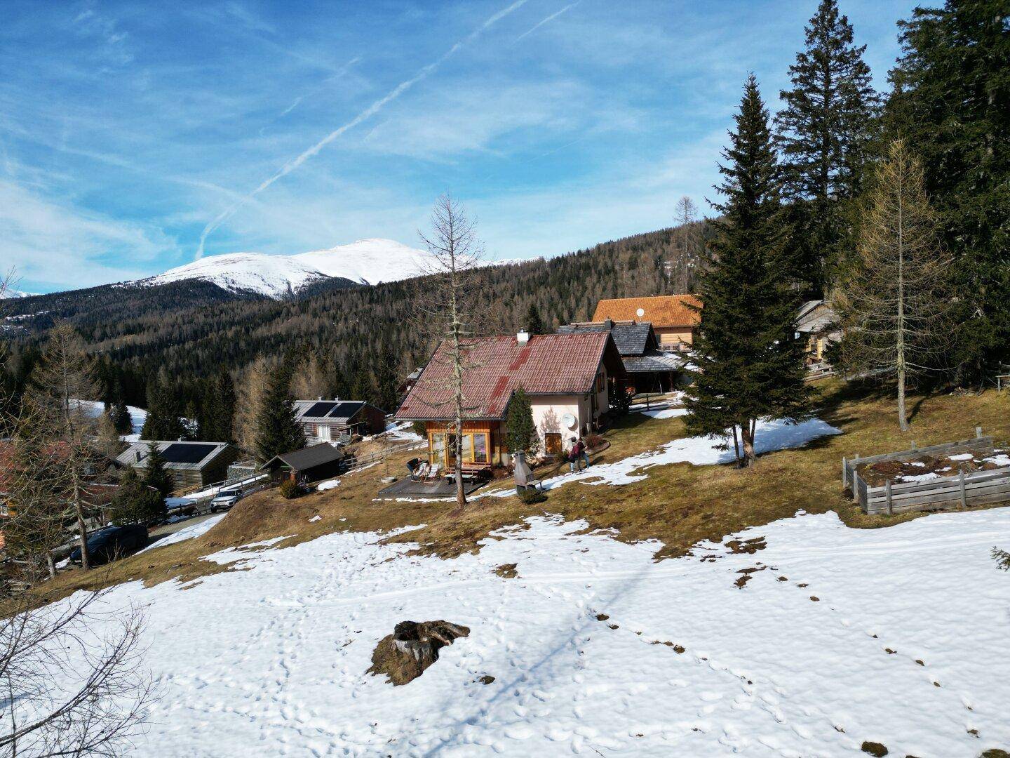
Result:
M806 32L776 125L800 276L820 296L848 238L843 203L860 189L880 98L863 61L866 45L852 42L836 0L821 0Z

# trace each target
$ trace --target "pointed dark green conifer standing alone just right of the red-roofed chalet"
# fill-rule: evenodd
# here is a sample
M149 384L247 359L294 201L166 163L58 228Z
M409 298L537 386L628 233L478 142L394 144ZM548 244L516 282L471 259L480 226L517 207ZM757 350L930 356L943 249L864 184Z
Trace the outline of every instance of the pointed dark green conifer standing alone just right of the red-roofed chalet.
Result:
M719 166L725 197L703 275L701 323L695 338L699 372L685 417L696 434L731 434L743 466L754 460L754 428L763 416L797 421L809 412L803 345L794 339L798 293L789 280L788 229L768 111L751 74L736 131ZM731 432L730 432L731 430ZM736 448L737 430L742 451Z

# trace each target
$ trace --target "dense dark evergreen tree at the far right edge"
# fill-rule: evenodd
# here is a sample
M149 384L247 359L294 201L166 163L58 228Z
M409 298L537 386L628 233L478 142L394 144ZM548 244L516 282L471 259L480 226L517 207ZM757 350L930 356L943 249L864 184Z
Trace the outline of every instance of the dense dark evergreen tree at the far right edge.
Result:
M886 123L922 159L965 305L960 379L1010 362L1010 6L947 0L900 22Z

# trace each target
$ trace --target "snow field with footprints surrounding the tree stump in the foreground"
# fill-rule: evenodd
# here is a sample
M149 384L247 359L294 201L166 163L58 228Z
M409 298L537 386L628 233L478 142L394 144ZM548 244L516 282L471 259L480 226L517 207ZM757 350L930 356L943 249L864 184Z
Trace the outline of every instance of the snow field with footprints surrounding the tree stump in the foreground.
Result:
M660 563L654 543L583 527L534 518L453 560L329 535L224 551L212 560L248 570L185 591L118 587L109 602L146 606L164 688L131 755L861 756L869 740L974 758L1010 745L1010 576L989 557L1010 509L866 531L800 514L739 535L765 538L752 555L710 545ZM507 563L517 578L492 573ZM397 622L437 619L472 632L423 676L393 687L365 673Z

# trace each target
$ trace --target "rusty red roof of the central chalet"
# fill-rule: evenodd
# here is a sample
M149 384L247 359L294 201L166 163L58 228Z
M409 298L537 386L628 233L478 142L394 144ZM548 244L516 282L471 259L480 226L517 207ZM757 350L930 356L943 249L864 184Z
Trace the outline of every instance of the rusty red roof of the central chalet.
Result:
M501 418L522 387L531 395L577 395L592 390L600 362L623 374L620 355L608 331L534 335L520 345L515 337L492 337L467 350L463 391L468 418ZM448 346L442 343L421 372L396 417L451 418L452 375Z

